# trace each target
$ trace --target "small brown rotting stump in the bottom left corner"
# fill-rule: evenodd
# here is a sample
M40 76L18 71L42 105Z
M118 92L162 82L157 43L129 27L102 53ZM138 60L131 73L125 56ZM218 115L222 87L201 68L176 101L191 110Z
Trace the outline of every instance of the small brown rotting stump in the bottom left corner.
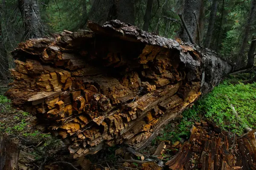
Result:
M0 135L0 170L18 170L19 153L7 134Z

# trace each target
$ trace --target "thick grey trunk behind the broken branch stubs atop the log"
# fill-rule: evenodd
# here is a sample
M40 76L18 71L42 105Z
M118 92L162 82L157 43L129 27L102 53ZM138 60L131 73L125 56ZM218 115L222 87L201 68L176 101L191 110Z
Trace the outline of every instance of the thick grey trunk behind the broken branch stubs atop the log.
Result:
M195 11L195 14L199 16L201 3L202 3L202 0L186 0L185 6L184 6L184 12L183 12L184 21L194 40L195 40L195 37L197 36L197 31L196 31L197 25L196 25L196 20L195 20L193 11ZM180 33L180 38L184 42L190 42L189 36L186 33L184 28L182 28L182 31Z

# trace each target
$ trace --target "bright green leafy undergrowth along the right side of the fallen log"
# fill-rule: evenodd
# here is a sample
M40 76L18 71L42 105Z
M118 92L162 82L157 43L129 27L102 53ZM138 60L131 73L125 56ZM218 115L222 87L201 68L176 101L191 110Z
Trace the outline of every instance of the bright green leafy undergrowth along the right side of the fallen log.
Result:
M240 75L239 78L241 77L243 76ZM190 136L192 125L195 122L200 122L201 119L208 119L221 127L222 130L238 135L244 133L246 125L255 129L256 82L246 85L242 82L241 79L236 77L226 79L215 87L212 92L195 102L192 108L184 111L183 118L176 127L172 127L172 123L169 123L157 139L172 142L187 139ZM235 116L232 106L241 121Z

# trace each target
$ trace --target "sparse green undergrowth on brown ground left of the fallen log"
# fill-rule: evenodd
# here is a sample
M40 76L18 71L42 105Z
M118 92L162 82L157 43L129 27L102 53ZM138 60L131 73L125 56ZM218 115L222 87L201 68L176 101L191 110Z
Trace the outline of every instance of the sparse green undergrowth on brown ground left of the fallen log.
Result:
M49 150L61 150L63 147L61 140L49 133L37 130L32 126L34 121L34 116L12 108L11 101L6 96L0 95L0 133L7 133L17 143L20 143L19 141L32 145L41 143L38 150L41 150L42 153L49 152ZM23 144L20 146L26 148Z

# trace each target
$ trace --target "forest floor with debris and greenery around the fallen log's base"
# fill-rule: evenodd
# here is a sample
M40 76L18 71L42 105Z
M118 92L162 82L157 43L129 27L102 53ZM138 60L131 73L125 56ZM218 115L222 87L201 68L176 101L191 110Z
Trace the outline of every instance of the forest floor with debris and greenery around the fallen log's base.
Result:
M21 170L160 170L189 139L195 124L210 121L238 136L244 133L244 127L256 129L256 82L248 83L253 76L255 72L229 76L166 125L151 145L138 153L128 146L116 145L94 156L72 160L60 139L35 128L34 116L12 108L3 95L7 88L0 88L0 133L8 133L18 143ZM233 114L232 106L240 120Z

